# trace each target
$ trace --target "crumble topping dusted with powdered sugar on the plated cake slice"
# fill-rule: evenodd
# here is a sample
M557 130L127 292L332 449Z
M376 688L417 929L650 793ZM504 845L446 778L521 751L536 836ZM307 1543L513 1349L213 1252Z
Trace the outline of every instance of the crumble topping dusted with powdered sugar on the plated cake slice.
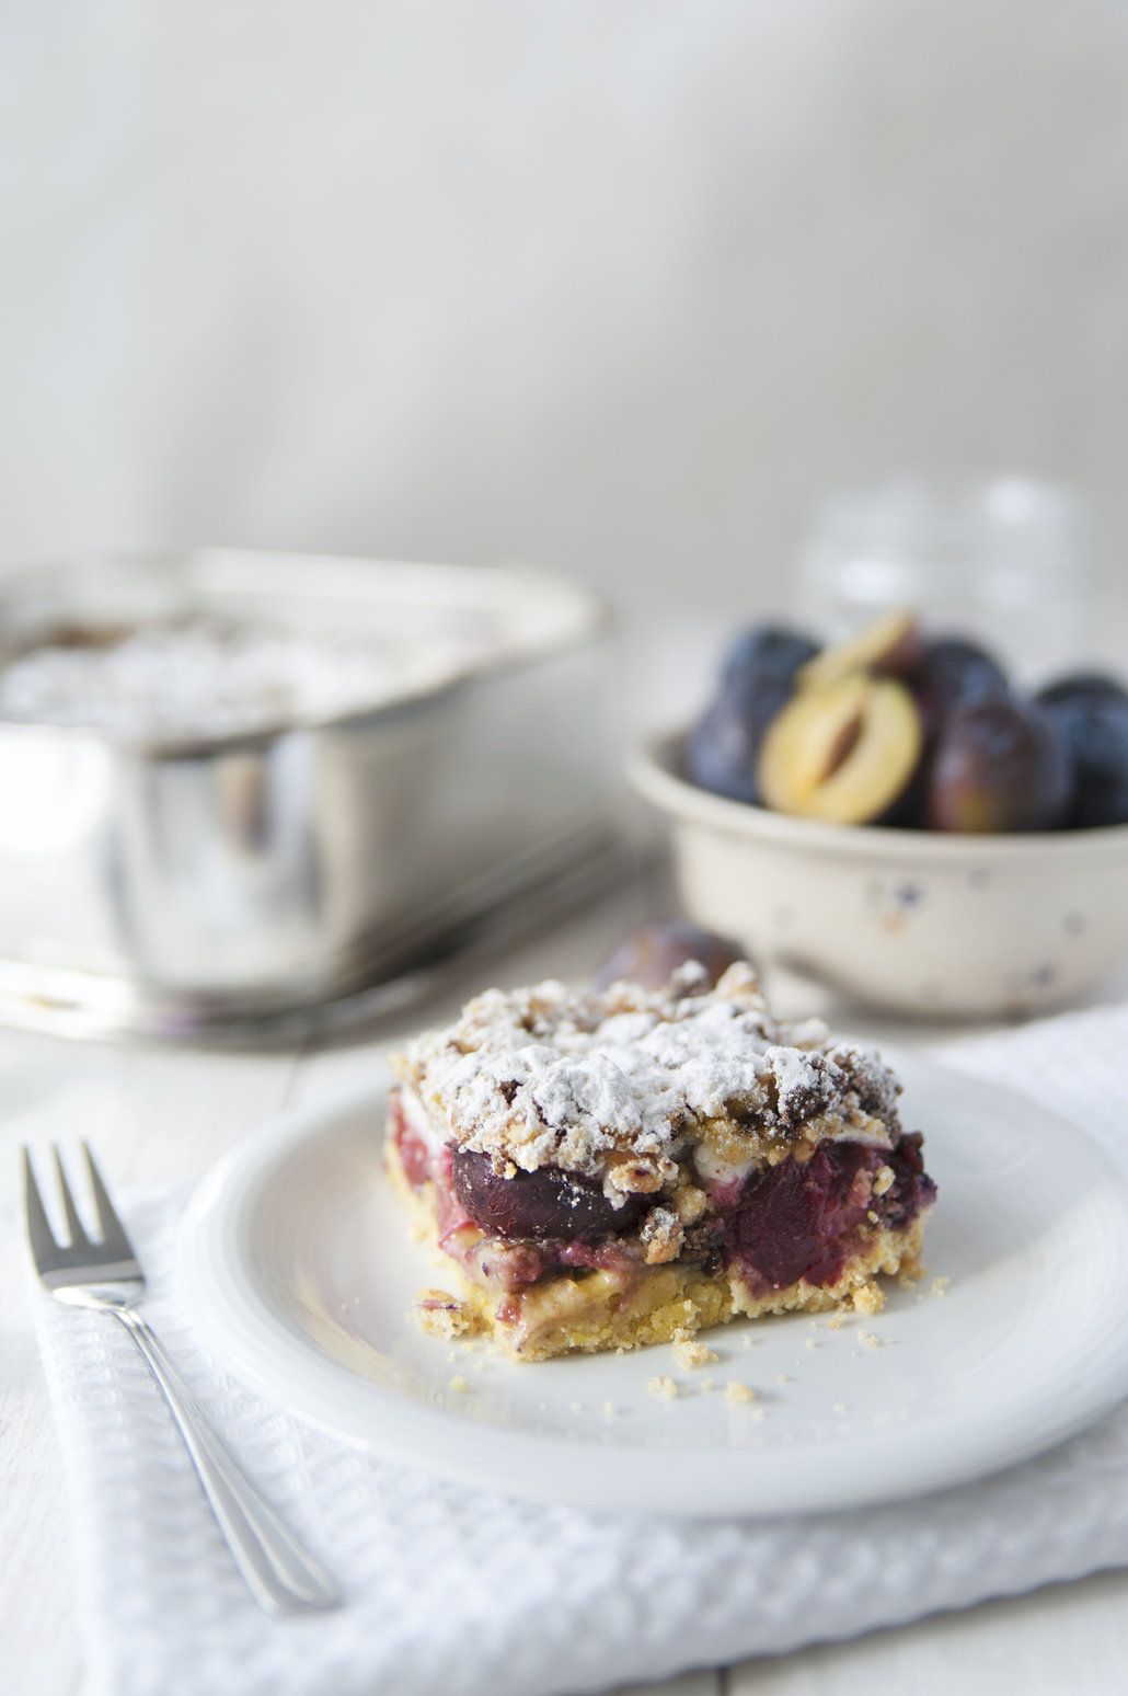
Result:
M660 990L487 990L394 1062L463 1150L495 1170L541 1165L604 1180L616 1201L672 1189L675 1155L719 1124L738 1170L807 1141L889 1143L899 1085L819 1021L787 1026L748 963L716 989L694 963Z

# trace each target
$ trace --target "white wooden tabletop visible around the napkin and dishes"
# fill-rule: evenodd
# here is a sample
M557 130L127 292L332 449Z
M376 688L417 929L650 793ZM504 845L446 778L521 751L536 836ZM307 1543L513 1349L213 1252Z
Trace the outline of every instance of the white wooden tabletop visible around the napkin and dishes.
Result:
M585 977L636 923L641 902L641 894L616 897L556 936L477 968L470 980L451 982L395 1024L334 1048L307 1045L300 1053L248 1055L71 1045L0 1031L0 1691L5 1696L71 1696L81 1684L59 1450L25 1292L19 1145L47 1138L66 1143L85 1135L119 1189L195 1177L283 1104L361 1077L378 1046L416 1024L444 1019L483 982ZM906 1033L897 1035L904 1041ZM1104 1696L1126 1684L1128 1574L1106 1574L846 1645L692 1674L662 1689L670 1696L872 1696L875 1689L913 1696L952 1691ZM209 1696L239 1696L239 1691Z

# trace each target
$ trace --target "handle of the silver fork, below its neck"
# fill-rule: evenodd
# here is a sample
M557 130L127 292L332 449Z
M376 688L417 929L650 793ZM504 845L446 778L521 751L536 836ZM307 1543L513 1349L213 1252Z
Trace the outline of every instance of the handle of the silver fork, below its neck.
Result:
M144 1355L183 1437L224 1542L260 1608L266 1613L336 1608L341 1601L336 1584L227 1453L165 1345L132 1308L110 1311Z

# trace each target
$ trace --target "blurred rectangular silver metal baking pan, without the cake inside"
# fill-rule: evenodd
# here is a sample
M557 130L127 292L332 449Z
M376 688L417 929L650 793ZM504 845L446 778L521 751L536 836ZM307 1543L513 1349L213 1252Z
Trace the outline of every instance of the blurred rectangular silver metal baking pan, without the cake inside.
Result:
M251 731L0 722L0 1018L292 1036L402 999L616 862L607 619L585 589L219 550L92 558L3 583L0 661L58 629L195 614L448 660L371 706Z

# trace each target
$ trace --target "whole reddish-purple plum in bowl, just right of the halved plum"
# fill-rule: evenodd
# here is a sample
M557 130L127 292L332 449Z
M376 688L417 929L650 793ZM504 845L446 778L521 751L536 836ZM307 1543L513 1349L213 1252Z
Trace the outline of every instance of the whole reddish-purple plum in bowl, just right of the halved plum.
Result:
M980 700L941 726L928 773L935 831L1052 831L1069 817L1069 743L1043 707Z

